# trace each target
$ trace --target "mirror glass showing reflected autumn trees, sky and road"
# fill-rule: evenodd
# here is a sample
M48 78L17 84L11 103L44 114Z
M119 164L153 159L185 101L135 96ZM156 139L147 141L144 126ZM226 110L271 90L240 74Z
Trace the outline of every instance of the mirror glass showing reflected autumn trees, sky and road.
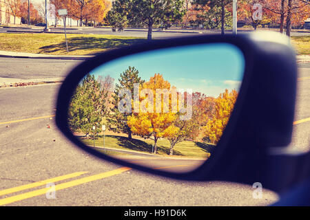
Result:
M244 69L242 52L227 43L118 58L81 80L70 103L70 129L112 157L188 172L216 150Z

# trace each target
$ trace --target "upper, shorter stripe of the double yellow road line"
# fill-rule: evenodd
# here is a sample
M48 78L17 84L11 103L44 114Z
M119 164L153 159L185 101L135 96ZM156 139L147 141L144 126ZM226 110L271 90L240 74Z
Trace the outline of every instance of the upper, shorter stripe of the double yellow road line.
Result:
M51 179L45 179L45 180L42 180L42 181L37 181L37 182L32 183L32 184L26 184L26 185L17 186L17 187L14 187L14 188L8 188L6 190L1 190L0 191L0 196L1 195L6 195L6 194L10 194L10 193L13 193L13 192L19 192L21 190L26 190L28 188L34 188L34 187L37 187L37 186L43 186L45 184L54 183L56 181L61 181L61 180L64 180L64 179L70 179L70 178L73 178L73 177L78 177L80 175L83 175L84 173L88 173L88 172L76 172L76 173L71 173L71 174L68 174L68 175L62 175L62 176L59 176L59 177L54 177L54 178L51 178Z

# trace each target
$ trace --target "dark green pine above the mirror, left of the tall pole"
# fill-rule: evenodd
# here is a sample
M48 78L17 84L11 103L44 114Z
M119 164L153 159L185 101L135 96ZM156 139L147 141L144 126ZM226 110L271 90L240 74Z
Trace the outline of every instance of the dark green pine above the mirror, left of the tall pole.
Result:
M152 40L155 24L168 28L171 23L182 19L185 13L182 5L183 0L116 0L107 21L113 30L123 30L125 25L146 25L147 39Z

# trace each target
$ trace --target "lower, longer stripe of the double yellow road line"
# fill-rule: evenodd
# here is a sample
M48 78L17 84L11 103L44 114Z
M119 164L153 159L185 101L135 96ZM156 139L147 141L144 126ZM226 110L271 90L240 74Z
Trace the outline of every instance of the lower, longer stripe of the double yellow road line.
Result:
M85 184L87 182L94 181L94 180L97 180L97 179L103 179L105 177L111 177L113 175L117 175L117 174L123 173L123 172L125 172L127 170L131 170L131 168L122 167L122 168L118 168L116 170L111 170L111 171L108 171L108 172L105 172L105 173L100 173L100 174L97 174L97 175L92 175L90 177L83 177L81 179L76 179L76 180L68 181L68 182L63 183L63 184L55 185L55 190L62 190L62 189L65 189L65 188L70 188L72 186L78 186L78 185L81 185L81 184ZM50 188L42 188L42 189L39 189L39 190L34 190L32 192L25 192L25 193L20 194L20 195L15 195L15 196L12 196L12 197L8 197L6 199L0 199L0 206L6 205L8 203L15 202L15 201L21 201L23 199L29 199L29 198L32 198L32 197L37 197L39 195L44 195L49 190L50 190Z

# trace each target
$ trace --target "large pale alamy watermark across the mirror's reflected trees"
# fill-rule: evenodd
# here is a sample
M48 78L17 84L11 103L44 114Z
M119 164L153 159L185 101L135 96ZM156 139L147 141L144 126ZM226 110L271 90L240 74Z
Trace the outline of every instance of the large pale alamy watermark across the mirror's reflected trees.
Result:
M133 100L132 100L133 95ZM118 93L121 113L180 113L180 120L192 118L192 89L140 89L134 83L134 94L123 88ZM185 104L186 101L186 104Z

